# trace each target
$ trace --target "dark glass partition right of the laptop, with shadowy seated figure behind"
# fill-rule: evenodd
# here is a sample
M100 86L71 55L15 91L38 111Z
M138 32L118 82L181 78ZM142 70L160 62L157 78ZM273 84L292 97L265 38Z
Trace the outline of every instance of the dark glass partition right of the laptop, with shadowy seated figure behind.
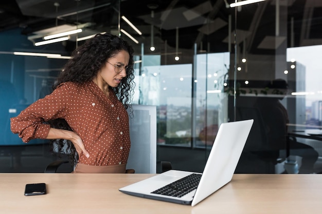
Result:
M236 108L229 112L237 120L256 118L238 172L321 171L321 6L277 0L235 9L236 100L228 106L236 102Z

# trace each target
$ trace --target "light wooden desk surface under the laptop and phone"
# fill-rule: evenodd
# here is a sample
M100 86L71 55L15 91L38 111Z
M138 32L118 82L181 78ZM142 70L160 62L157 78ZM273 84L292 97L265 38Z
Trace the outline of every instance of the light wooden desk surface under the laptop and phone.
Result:
M322 174L235 174L191 207L129 196L118 188L153 174L0 173L1 213L320 213ZM24 196L27 183L48 193Z

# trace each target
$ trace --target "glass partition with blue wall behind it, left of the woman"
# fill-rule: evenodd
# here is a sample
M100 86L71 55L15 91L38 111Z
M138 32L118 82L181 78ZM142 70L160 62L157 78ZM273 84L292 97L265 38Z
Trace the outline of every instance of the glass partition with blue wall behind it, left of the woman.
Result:
M43 172L52 161L66 158L52 152L48 140L23 143L10 131L9 119L51 93L71 52L87 38L96 33L119 34L119 6L119 1L11 1L0 5L0 98L4 101L0 104L0 172ZM72 167L65 164L60 170L70 172Z

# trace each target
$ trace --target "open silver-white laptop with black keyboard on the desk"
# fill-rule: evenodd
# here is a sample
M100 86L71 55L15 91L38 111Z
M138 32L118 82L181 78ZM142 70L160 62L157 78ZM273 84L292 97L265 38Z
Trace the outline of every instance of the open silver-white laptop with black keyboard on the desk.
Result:
M132 196L194 206L229 183L254 120L222 123L203 173L169 170L151 178L122 187ZM183 181L188 179L189 181ZM191 187L196 183L196 187ZM184 193L176 191L183 187Z

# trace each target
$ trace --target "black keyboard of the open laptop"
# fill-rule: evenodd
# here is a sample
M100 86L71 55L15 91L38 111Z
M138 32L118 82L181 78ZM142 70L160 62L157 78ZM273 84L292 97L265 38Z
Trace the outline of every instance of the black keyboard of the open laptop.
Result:
M151 193L181 198L198 187L202 174L192 173Z

